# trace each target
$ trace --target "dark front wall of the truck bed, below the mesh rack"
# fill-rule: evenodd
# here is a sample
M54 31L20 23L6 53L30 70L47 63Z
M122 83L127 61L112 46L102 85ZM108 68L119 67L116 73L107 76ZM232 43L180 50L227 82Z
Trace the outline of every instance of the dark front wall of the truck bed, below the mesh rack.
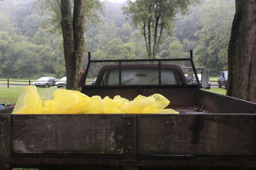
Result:
M113 99L116 95L120 95L121 97L134 100L139 94L143 96L150 96L155 93L162 94L165 98L170 100L170 104L198 104L198 88L197 86L184 86L184 87L87 87L84 88L82 93L86 94L89 97L99 95L101 98L108 96Z

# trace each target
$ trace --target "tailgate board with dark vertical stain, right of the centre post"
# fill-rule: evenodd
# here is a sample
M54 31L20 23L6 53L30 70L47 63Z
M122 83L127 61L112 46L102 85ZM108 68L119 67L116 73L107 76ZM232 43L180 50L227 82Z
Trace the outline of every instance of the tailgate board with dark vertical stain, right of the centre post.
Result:
M256 115L137 115L137 154L255 156Z

